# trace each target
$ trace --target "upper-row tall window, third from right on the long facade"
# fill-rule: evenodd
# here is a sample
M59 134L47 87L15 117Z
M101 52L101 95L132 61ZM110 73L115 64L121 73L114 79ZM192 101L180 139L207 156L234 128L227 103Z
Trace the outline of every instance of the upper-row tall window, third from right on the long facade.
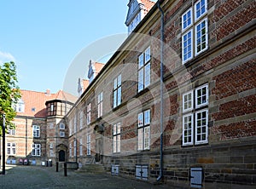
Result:
M113 80L113 108L119 106L122 100L122 76L121 74Z

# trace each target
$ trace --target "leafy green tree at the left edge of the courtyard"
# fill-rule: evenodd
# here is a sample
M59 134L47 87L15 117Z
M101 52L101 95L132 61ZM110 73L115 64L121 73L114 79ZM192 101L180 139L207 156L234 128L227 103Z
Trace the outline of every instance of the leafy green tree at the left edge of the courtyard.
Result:
M12 123L16 116L13 106L21 97L17 83L15 62L11 61L3 63L3 66L0 65L0 125L3 125L4 113L6 132L8 129L15 129L15 124ZM0 129L0 135L2 135L2 129Z

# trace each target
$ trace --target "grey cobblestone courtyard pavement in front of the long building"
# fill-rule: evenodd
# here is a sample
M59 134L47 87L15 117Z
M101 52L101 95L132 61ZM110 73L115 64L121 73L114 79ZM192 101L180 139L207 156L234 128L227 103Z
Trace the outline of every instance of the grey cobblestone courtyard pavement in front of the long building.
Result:
M155 186L148 182L108 174L93 175L70 170L67 170L67 176L64 176L64 171L55 172L55 167L8 166L6 175L0 175L0 188L170 189L172 187Z

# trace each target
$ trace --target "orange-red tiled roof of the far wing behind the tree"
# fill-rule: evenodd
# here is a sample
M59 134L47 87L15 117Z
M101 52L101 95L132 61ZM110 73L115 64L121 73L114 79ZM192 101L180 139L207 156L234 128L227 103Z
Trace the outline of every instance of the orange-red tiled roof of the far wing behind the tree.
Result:
M31 90L20 89L21 100L23 100L25 109L24 112L17 112L17 116L28 116L28 117L46 117L46 106L45 102L49 100L68 100L75 102L77 97L72 94L67 94L62 90L56 94L50 94L47 92L36 92Z

